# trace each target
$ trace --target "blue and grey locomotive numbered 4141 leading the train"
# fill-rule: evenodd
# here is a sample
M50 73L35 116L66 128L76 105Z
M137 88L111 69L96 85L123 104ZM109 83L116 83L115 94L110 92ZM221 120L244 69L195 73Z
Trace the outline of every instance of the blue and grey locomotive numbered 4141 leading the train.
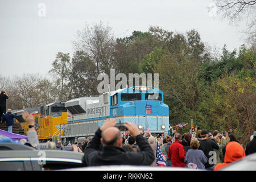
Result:
M67 123L61 140L93 136L107 118L118 123L135 123L139 130L151 133L167 133L169 107L164 104L164 94L152 86L133 86L106 92L97 97L81 97L65 102ZM61 133L61 132L60 132Z

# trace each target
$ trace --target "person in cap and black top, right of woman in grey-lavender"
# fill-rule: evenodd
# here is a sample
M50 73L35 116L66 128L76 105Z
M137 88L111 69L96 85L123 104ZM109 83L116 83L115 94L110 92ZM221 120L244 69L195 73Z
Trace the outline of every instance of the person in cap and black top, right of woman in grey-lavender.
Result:
M202 130L201 131L201 140L199 141L200 146L199 150L202 150L204 152L204 155L207 156L207 163L204 164L205 169L208 171L213 171L214 167L216 166L217 161L214 160L214 155L216 155L216 152L214 149L218 150L220 147L218 144L215 142L213 137L211 136L211 139L208 138L208 131L207 130Z

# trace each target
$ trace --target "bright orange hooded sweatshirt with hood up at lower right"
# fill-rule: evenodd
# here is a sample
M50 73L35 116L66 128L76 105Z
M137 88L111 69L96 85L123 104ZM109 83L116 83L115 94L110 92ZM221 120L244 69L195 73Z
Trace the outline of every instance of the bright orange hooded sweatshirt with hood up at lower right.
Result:
M218 163L214 168L214 171L217 171L225 166L228 166L230 163L242 159L243 157L245 157L245 150L243 150L241 144L239 144L238 142L229 142L226 145L224 163Z

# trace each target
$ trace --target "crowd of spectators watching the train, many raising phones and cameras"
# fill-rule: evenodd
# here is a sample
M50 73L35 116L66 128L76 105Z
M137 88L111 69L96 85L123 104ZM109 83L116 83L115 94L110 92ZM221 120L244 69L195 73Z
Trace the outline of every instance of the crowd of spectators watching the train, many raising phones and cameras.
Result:
M7 96L6 92L1 94L2 97ZM9 118L13 120L16 114L11 114L11 109L7 111L7 114L3 117L9 123ZM75 144L71 142L62 144L61 141L57 143L39 143L34 118L27 111L23 111L22 117L29 126L28 142L24 139L14 142L9 138L0 136L0 143L25 144L38 150L83 152L84 158L82 160L85 166L159 166L157 156L160 153L164 166L213 171L256 152L256 131L254 131L250 138L251 141L244 149L237 141L232 130L221 133L214 130L209 133L207 130L197 130L196 127L192 134L180 134L178 132L179 127L176 126L172 134L164 137L164 134L144 132L144 128L141 132L137 125L130 122L124 124L126 131L121 132L118 127L115 127L117 125L115 119L106 119L104 124L96 131L94 137L80 139ZM12 126L11 124L13 125L13 123L10 123L10 126ZM10 129L8 127L8 130L11 132L11 127Z

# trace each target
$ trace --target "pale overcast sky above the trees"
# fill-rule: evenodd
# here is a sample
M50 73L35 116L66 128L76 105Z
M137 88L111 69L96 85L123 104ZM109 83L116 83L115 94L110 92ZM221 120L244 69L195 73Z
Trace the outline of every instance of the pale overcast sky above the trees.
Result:
M0 75L46 76L57 52L73 53L76 32L103 22L116 38L159 26L197 30L203 42L232 51L244 43L239 28L208 12L210 0L0 0ZM242 23L245 24L245 23Z

